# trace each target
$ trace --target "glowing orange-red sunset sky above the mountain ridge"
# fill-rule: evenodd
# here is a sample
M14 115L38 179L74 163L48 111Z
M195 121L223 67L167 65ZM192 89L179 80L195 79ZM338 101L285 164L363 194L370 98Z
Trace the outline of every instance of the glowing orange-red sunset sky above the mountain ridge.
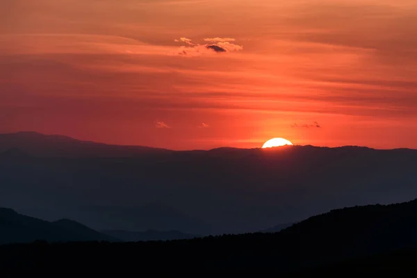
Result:
M0 0L0 133L417 148L415 0Z

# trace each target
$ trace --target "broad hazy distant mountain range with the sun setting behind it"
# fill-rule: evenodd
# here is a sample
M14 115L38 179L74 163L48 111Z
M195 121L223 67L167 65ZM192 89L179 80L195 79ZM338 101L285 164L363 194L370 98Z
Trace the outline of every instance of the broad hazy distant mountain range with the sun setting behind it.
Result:
M38 133L0 138L0 204L42 219L70 218L93 229L246 233L341 206L417 196L413 149L174 152Z

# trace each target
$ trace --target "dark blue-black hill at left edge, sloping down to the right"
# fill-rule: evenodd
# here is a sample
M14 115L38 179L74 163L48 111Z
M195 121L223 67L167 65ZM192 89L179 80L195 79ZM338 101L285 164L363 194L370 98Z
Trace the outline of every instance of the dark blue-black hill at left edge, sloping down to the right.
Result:
M10 208L0 208L0 244L31 243L35 240L119 241L71 220L48 222L19 214Z

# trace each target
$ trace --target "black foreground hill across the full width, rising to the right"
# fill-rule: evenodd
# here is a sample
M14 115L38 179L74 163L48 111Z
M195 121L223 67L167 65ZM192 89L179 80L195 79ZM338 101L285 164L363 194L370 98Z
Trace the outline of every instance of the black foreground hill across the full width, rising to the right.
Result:
M195 270L204 270L205 275L219 271L260 275L275 270L280 277L337 272L343 276L359 271L376 274L389 267L400 273L404 268L415 270L416 208L417 200L343 208L278 233L138 243L7 245L0 247L0 254L7 254L0 266L42 269L52 263L66 269L71 263L72 270L127 272L139 267L165 275L195 274ZM67 260L74 252L76 258ZM92 257L95 259L88 259Z

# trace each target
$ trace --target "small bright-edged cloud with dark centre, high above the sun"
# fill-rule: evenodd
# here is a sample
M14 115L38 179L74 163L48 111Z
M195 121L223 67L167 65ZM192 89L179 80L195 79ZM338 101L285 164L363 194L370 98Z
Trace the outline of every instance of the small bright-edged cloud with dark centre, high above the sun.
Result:
M189 38L179 38L174 40L174 42L183 42L187 44L186 46L181 46L178 54L181 56L200 56L202 54L210 53L224 53L231 51L240 51L243 50L243 46L234 44L236 39L234 38L205 38L204 42L211 42L208 44L199 44L195 43Z

